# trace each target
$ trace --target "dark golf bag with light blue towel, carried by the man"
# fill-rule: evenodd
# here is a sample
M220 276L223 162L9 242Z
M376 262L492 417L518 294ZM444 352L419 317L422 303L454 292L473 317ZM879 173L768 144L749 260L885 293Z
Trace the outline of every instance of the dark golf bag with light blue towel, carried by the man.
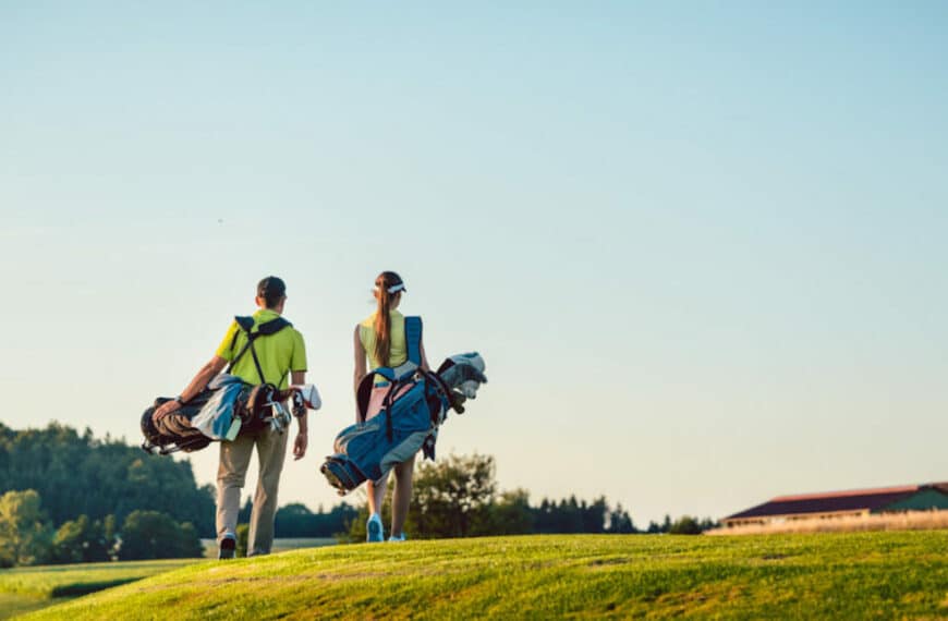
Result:
M233 440L242 429L256 430L267 425L282 433L290 424L290 414L282 405L282 402L288 399L292 399L292 411L295 416L301 416L306 409L319 409L319 393L315 386L306 385L278 390L276 386L264 379L254 350L254 341L260 337L275 334L291 324L280 317L260 324L256 331L252 331L253 317L234 319L247 336L246 345L233 357L227 372L215 377L200 393L171 414L160 418L155 416L158 406L171 401L168 397L159 397L150 407L145 410L141 421L142 435L145 437L142 442L143 450L162 455L177 451L197 451L212 441ZM235 342L236 333L231 341L231 349ZM254 357L263 383L254 386L229 374L247 350Z

